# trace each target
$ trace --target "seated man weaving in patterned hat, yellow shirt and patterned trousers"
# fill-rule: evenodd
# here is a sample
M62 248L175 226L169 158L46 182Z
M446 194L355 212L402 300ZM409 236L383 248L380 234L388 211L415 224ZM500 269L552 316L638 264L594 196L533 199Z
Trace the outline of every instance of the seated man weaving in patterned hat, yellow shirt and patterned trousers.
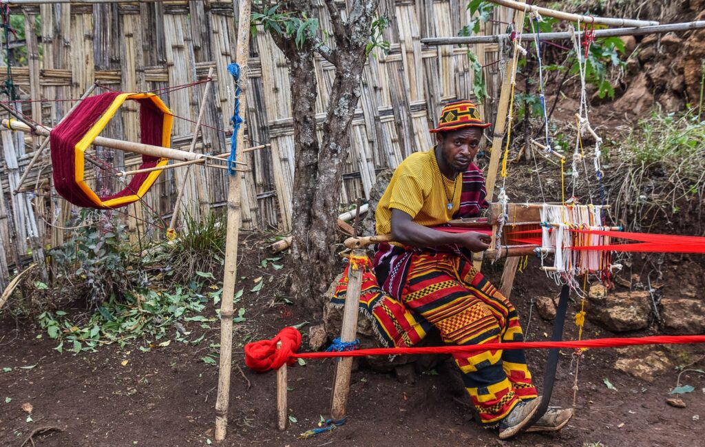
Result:
M523 341L514 306L472 267L472 252L486 250L489 236L431 228L477 217L489 206L482 171L472 163L487 126L472 102L446 104L431 130L437 145L398 166L376 209L377 233L395 241L377 246L379 286L439 329L449 345ZM525 429L540 398L524 352L454 357L483 426L498 427L501 439ZM570 417L570 409L551 408L527 431L558 430Z

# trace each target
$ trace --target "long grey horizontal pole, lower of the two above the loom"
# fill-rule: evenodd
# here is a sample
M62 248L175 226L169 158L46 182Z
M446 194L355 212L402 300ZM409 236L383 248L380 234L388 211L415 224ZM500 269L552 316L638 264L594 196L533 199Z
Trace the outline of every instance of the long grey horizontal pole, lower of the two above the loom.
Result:
M666 34L667 32L701 30L705 28L705 20L696 20L694 22L669 23L668 25L644 26L638 28L613 28L611 30L595 30L595 37L619 37L619 36L642 36L649 34ZM541 32L541 40L563 40L572 39L573 35L584 36L585 32L571 33L565 32ZM536 40L536 35L533 33L525 33L517 36L520 41ZM470 37L428 37L421 39L422 44L429 46L441 45L474 45L474 44L490 44L496 42L508 42L511 38L508 34L500 34L494 36L470 36Z

